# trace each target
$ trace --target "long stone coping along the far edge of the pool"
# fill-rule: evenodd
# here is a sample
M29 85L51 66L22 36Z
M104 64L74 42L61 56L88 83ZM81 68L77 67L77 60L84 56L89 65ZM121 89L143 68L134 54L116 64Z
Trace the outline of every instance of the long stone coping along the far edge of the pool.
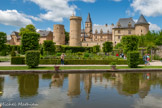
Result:
M162 72L162 69L81 69L81 70L0 70L0 74L47 74L47 73L112 73L112 72Z

